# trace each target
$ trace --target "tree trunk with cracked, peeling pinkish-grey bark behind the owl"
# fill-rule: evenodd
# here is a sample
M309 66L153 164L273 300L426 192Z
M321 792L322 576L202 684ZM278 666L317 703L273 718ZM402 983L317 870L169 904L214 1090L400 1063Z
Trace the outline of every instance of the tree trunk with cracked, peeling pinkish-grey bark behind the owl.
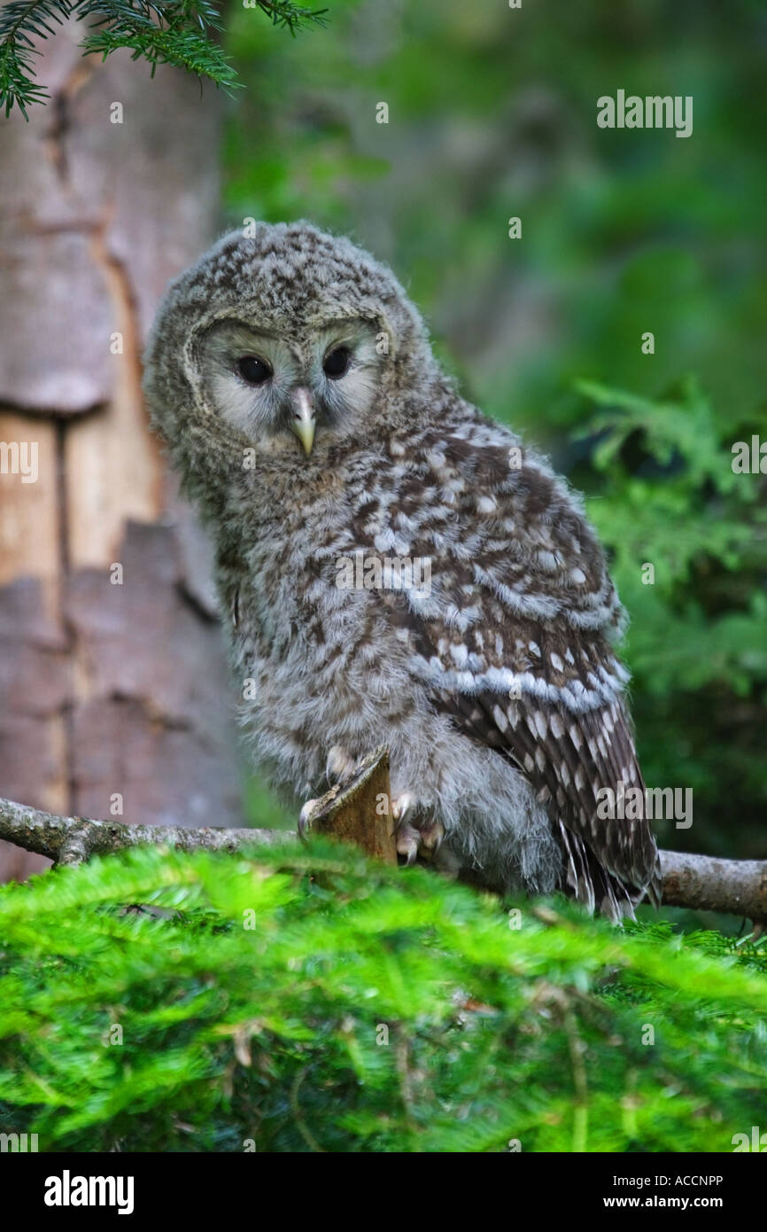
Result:
M140 397L163 288L214 233L219 96L81 33L0 124L0 795L238 824L208 548ZM0 876L44 864L0 844Z

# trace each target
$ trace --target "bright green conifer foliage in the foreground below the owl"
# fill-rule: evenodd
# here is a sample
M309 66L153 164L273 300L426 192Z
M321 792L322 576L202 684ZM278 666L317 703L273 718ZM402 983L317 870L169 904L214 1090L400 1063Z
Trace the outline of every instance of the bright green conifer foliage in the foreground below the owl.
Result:
M42 1151L720 1152L760 1122L763 942L520 909L511 928L489 896L330 843L137 849L5 886L0 1131Z

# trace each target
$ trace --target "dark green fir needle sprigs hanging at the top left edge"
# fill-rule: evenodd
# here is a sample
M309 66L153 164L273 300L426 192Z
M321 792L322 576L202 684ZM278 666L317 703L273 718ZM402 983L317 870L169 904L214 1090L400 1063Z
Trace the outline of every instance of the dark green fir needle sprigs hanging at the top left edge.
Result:
M9 116L16 105L26 117L27 107L46 101L48 94L33 80L39 54L33 39L53 34L52 23L71 16L89 23L80 44L86 55L106 59L128 48L134 60L148 60L153 76L158 64L174 64L231 92L240 84L236 73L206 33L223 28L218 7L209 0L11 0L0 7L0 107ZM292 34L307 22L323 25L326 11L292 0L254 0L250 7Z

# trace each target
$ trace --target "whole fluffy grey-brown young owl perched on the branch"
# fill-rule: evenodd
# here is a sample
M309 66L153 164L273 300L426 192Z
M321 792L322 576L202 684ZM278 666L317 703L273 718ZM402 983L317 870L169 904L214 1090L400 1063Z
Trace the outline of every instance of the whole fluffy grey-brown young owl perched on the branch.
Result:
M603 807L644 798L603 552L390 270L307 222L224 235L167 288L144 388L272 785L307 801L387 744L403 862L613 920L657 903L644 811Z

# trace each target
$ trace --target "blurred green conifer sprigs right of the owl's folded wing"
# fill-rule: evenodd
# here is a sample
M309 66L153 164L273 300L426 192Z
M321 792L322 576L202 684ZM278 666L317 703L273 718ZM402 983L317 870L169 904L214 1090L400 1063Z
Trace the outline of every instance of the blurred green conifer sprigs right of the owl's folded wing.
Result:
M693 835L666 822L659 838L699 850L745 797L751 846L729 838L728 854L763 857L767 480L733 471L733 445L751 441L751 425L715 415L692 378L657 400L577 388L600 408L580 430L581 461L596 473L588 511L632 614L645 776L692 787L698 807Z

